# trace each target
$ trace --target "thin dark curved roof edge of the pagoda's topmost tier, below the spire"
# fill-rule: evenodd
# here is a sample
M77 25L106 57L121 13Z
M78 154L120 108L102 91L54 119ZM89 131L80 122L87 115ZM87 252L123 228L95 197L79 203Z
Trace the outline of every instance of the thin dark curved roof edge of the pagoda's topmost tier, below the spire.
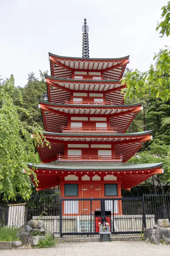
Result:
M111 61L111 60L124 60L124 59L128 59L130 57L130 55L127 55L125 57L121 57L121 58L80 58L80 57L66 57L66 56L60 56L60 55L55 55L51 52L48 52L48 55L49 56L53 56L53 57L56 57L56 58L62 58L62 59L71 59L71 60L80 60L80 61L85 61L85 60L88 60L88 61L105 61L105 60L108 60L108 61Z

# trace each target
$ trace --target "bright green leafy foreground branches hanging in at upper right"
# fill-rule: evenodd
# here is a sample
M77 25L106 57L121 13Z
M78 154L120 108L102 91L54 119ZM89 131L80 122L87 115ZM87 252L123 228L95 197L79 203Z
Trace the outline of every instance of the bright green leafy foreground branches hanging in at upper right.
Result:
M162 7L161 18L164 20L159 23L156 30L160 30L161 37L170 35L170 1L167 6ZM125 91L125 98L127 96L133 99L142 99L144 94L149 93L153 99L161 98L161 100L170 98L170 49L166 47L158 54L155 54L153 60L156 59L156 65L150 66L147 72L140 72L135 70L127 72L125 78L122 79L122 84L127 85Z

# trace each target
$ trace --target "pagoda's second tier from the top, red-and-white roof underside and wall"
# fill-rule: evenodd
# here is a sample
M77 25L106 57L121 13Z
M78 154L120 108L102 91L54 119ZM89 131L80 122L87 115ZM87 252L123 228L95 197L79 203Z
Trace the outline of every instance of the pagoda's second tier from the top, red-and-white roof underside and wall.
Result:
M46 75L45 82L49 102L65 103L77 97L82 100L88 97L89 101L102 98L104 102L112 102L115 105L124 103L124 93L121 93L121 90L126 85L121 85L119 80L103 80L101 77L98 79L93 79L93 77L91 79L59 79Z

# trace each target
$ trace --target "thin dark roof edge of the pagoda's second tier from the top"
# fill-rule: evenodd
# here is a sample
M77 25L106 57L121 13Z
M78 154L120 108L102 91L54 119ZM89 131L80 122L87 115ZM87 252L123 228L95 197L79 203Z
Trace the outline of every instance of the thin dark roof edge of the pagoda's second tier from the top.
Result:
M84 58L83 58L84 59ZM91 82L91 83L120 83L120 80L104 80L104 79L97 79L97 80L92 80L92 79L71 79L71 78L58 78L58 77L54 77L54 76L48 76L48 75L45 75L45 79L54 79L56 81L65 81L65 82L68 82L68 81L71 81L71 82L81 82L81 83L88 83L88 82Z

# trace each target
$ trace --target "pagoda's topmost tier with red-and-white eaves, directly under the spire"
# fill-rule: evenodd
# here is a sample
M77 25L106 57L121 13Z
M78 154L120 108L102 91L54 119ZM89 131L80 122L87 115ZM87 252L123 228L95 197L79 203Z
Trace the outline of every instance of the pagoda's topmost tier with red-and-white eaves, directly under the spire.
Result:
M75 58L54 55L49 52L51 76L57 78L78 78L120 80L129 56L122 58ZM82 73L83 71L83 73Z

